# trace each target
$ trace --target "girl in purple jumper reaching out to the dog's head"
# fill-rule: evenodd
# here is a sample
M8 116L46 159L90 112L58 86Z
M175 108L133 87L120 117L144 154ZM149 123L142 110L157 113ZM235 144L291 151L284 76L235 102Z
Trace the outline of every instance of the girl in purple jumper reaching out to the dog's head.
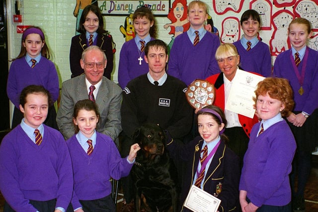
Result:
M77 134L67 141L74 171L75 212L116 212L109 180L127 176L140 149L135 143L129 155L121 158L115 142L95 131L98 120L93 101L84 99L75 104L73 122Z

